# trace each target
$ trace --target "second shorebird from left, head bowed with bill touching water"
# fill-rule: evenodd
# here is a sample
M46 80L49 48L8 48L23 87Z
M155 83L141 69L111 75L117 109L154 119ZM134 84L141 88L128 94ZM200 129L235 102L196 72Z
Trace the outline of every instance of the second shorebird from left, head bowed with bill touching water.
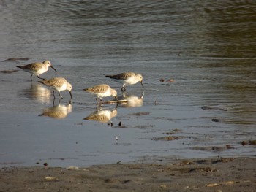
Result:
M65 80L63 77L54 77L50 80L42 80L39 82L53 89L54 99L55 99L54 91L58 91L59 96L61 96L61 91L66 91L66 90L69 91L70 97L72 99L72 93L71 93L72 85L69 82L67 82L67 80ZM61 99L62 98L63 97L61 96Z

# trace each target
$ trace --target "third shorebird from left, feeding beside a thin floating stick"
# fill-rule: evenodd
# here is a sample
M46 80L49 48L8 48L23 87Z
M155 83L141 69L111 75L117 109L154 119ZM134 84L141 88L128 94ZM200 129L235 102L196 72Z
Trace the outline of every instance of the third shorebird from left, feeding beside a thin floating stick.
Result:
M98 103L98 98L100 99L100 101L102 101L102 97L105 97L105 96L114 96L117 99L116 90L114 90L113 88L110 88L109 85L105 85L105 84L96 85L91 88L85 88L83 89L83 91L88 91L89 93L93 93L97 95L97 98L96 98L97 103Z

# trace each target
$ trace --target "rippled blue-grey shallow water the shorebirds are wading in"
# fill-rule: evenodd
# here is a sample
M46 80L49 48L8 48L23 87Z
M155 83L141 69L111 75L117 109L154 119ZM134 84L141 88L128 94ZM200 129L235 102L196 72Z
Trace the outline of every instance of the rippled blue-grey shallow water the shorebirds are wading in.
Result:
M241 1L1 1L1 166L255 156L255 145L241 145L256 139L255 8ZM58 72L41 76L67 78L71 104L69 93L53 104L37 77L31 83L29 73L12 72L45 59ZM142 73L145 88L127 86L129 103L108 123L84 120L97 106L83 88L108 83L121 97L121 85L105 75L128 71ZM177 138L159 139L169 136Z

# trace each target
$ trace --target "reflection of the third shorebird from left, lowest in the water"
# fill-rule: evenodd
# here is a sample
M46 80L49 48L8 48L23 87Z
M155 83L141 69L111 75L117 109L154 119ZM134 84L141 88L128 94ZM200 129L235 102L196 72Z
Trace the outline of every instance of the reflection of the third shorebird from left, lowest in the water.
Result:
M111 118L116 117L116 115L116 108L113 110L97 109L95 112L91 112L91 114L86 118L83 118L83 120L94 120L99 121L101 123L108 123L111 120Z

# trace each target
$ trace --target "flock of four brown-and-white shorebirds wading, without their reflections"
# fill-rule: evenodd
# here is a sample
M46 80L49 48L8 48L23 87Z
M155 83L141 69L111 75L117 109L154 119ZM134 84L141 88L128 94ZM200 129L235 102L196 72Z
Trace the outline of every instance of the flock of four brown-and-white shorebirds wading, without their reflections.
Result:
M17 66L20 69L23 69L25 72L29 72L31 74L30 80L32 81L32 76L35 74L39 79L41 79L40 83L43 85L48 86L48 88L51 88L53 90L53 98L55 99L54 91L57 91L59 93L59 96L61 99L63 96L61 96L61 91L69 91L70 98L72 99L72 85L67 82L67 80L64 77L53 77L52 79L45 80L42 77L39 77L39 74L43 74L48 71L49 67L52 68L55 72L57 70L51 65L50 61L45 60L42 63L41 62L36 62L32 64L27 64L24 66ZM105 77L109 77L110 79L119 82L122 84L121 91L124 92L126 91L126 88L124 88L125 85L134 85L137 82L140 82L142 87L144 88L143 85L143 76L138 73L134 72L124 72L121 74L114 74L114 75L106 75ZM96 101L97 104L99 104L99 101L101 101L101 104L103 104L102 97L107 97L107 96L113 96L115 97L116 101L118 102L117 99L117 92L115 89L110 88L109 85L106 84L100 84L100 85L95 85L91 88L85 88L83 91L87 91L89 93L97 95Z

